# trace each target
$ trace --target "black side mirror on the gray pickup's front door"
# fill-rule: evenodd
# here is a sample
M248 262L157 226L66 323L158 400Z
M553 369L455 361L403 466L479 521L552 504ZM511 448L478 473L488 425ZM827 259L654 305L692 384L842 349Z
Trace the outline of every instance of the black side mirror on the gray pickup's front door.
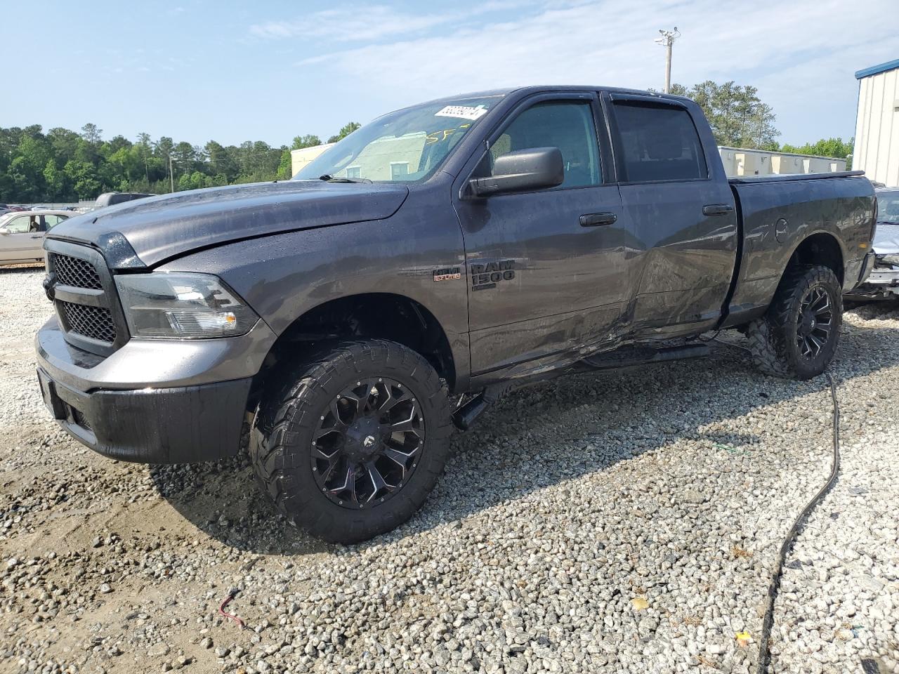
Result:
M558 147L531 147L498 157L494 173L468 181L476 197L545 190L565 180L565 163Z

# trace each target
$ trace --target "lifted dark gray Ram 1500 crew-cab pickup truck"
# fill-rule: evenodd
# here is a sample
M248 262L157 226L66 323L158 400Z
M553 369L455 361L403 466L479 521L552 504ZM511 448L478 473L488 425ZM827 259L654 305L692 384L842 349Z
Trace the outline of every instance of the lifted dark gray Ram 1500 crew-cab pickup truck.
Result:
M728 181L694 102L527 87L391 112L287 182L151 197L44 244L40 387L147 463L249 454L312 534L410 518L512 386L699 356L814 377L872 264L860 173ZM452 401L452 402L450 402Z

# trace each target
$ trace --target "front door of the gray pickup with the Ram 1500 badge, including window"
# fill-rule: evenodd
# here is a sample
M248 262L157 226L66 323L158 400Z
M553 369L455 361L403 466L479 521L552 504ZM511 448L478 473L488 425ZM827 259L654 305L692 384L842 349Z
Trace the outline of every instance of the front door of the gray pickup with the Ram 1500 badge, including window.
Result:
M610 160L608 138L597 132L605 129L600 120L589 93L527 99L490 137L472 175L489 175L494 160L507 152L558 147L564 182L456 200L475 376L540 359L577 359L619 333L629 300L621 282L628 221L618 186L604 179L610 172L603 158Z

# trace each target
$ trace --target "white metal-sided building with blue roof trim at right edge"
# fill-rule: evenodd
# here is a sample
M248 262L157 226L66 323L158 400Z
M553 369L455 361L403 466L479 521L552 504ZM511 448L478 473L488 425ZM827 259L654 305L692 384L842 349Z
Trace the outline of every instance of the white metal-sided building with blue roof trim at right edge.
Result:
M859 70L859 114L852 168L899 187L899 58Z

